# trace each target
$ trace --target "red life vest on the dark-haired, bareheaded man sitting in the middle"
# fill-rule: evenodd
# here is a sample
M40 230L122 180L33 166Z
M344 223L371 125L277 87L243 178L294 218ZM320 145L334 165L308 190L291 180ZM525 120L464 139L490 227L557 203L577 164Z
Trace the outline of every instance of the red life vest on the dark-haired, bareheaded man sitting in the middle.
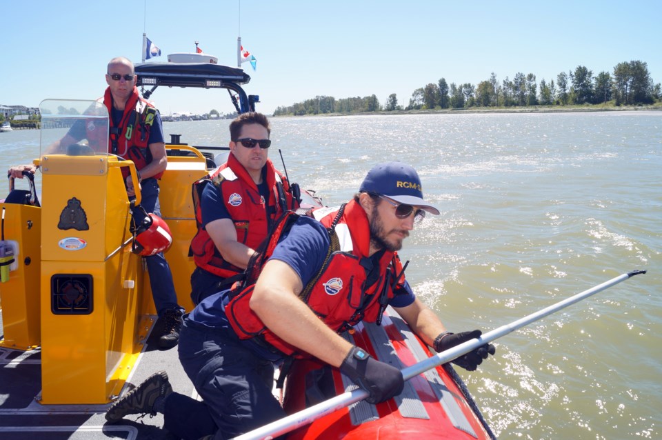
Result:
M196 266L223 278L243 272L242 268L228 263L221 257L221 252L202 226L200 198L208 184L212 183L221 192L225 208L237 230L237 241L251 249L258 248L269 234L274 221L281 217L283 212L297 208L296 203L292 201L288 180L274 168L270 159L267 159L265 167L266 172L263 175L270 192L266 205L257 185L234 154L230 154L228 161L223 165L193 183L193 207L198 232L191 241L191 253ZM268 215L268 211L273 214Z

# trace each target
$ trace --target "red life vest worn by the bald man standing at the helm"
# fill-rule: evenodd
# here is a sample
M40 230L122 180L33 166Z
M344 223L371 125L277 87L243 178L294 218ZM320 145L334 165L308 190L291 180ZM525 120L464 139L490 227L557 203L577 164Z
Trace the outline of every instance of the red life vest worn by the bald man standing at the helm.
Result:
M110 87L103 94L103 104L108 108L108 114L112 112L112 94ZM150 139L150 130L156 117L157 109L152 103L142 99L138 94L138 89L133 88L131 96L126 101L124 112L119 124L115 124L110 118L110 135L108 137L108 152L117 154L117 156L133 161L137 170L142 170L152 161L152 153L148 147ZM94 128L92 126L92 128ZM97 133L90 131L90 124L86 126L87 139L95 139ZM129 174L128 168L122 168L124 178ZM161 179L163 171L155 174L155 179Z

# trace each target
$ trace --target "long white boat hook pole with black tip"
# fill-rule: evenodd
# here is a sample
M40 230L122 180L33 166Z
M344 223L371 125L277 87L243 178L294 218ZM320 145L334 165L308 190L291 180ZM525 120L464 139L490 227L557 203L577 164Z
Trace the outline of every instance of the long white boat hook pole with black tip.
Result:
M538 312L534 312L532 314L529 314L528 316L513 321L510 324L506 324L505 326L496 328L491 332L487 332L479 338L471 339L470 341L461 343L459 346L449 348L448 350L445 350L433 357L420 361L419 363L416 363L407 368L403 368L402 375L405 381L407 381L412 377L421 374L422 372L425 372L427 370L430 370L431 368L439 366L442 363L447 363L452 359L456 359L462 354L466 354L471 350L479 348L480 346L483 346L486 343L490 343L495 339L503 337L510 332L514 332L515 330L518 330L519 328L528 326L528 324L534 321L538 321L539 319L542 319L554 312L558 312L559 310L566 308L576 302L579 302L582 299L586 299L593 294L602 292L603 290L608 289L620 283L621 281L625 281L630 277L634 277L634 275L645 274L645 273L646 273L645 270L632 270L632 272L621 274L618 277L612 278L609 281L605 281L604 283L599 284L598 286L592 287L588 290L584 290L583 292L575 294L574 296L564 299L563 301L559 301L558 303L553 304L552 306L543 308ZM332 397L331 399L325 400L321 403L318 403L317 405L311 406L310 408L305 408L305 410L295 412L294 414L291 414L287 417L283 417L283 419L273 421L272 423L262 426L261 428L257 428L250 432L246 432L245 434L241 434L237 437L234 437L234 440L273 439L274 437L277 437L281 434L285 434L286 432L293 431L297 428L300 428L301 426L308 425L309 423L312 423L313 421L320 419L321 417L324 417L327 414L330 414L341 408L345 408L345 406L350 406L352 403L361 401L366 397L368 397L368 392L362 390L361 388L353 391L344 392L343 394L339 394L336 397Z

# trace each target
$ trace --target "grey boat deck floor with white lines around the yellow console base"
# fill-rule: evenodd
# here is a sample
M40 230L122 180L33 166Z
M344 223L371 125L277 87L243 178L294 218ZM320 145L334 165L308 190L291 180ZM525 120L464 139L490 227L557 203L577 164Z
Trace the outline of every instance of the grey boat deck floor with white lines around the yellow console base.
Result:
M1 312L0 312L1 325ZM157 324L158 325L158 324ZM158 330L158 329L157 329ZM197 397L183 372L177 348L159 350L152 329L126 387L136 386L152 373L168 372L172 388ZM152 339L154 339L152 341ZM85 386L81 383L81 386ZM126 388L125 387L125 388ZM11 350L0 347L0 438L3 440L172 440L163 430L163 416L132 414L118 423L106 422L106 405L41 405L41 350Z

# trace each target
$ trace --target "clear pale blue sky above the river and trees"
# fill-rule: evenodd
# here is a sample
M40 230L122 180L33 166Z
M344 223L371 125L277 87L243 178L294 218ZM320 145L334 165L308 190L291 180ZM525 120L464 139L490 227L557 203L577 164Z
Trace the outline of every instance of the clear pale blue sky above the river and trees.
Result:
M487 80L517 72L538 83L586 66L596 75L622 61L648 63L662 82L662 1L390 0L32 0L2 1L0 104L38 106L42 99L96 99L112 57L141 61L142 34L172 52L194 41L219 63L257 58L245 87L258 109L330 95L396 93L406 105L416 88ZM230 112L223 90L157 90L163 114Z

